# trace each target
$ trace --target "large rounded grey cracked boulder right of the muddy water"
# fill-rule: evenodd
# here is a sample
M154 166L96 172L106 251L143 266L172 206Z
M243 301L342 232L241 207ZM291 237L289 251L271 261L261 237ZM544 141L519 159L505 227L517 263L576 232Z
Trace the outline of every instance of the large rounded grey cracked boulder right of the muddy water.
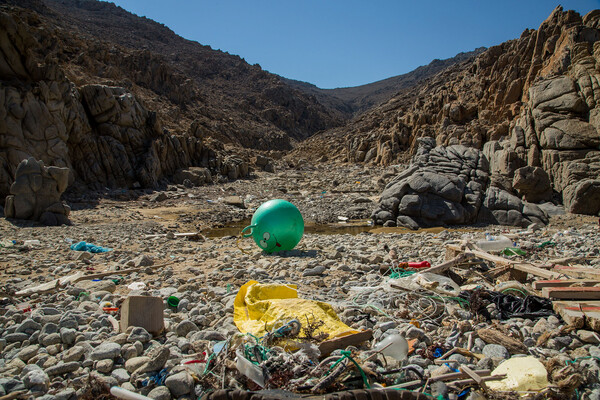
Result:
M376 224L416 229L477 219L488 180L486 158L462 145L434 146L433 138L420 139L410 168L385 187L372 214Z

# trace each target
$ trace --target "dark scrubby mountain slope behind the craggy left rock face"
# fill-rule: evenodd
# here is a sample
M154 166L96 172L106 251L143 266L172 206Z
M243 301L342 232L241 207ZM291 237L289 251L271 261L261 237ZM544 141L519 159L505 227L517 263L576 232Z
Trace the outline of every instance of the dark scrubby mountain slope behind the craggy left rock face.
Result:
M343 119L258 65L183 39L112 3L35 3L58 37L52 55L73 82L133 84L134 92L135 86L154 92L142 96L150 102L166 97L170 112L161 110L164 105L157 110L166 127L187 129L199 120L209 136L268 150L289 149L294 140Z

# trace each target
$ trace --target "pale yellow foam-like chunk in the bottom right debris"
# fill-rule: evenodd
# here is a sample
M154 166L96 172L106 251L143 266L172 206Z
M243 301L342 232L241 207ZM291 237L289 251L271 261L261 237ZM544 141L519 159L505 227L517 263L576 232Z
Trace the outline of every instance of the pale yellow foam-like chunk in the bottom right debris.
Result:
M535 357L513 357L498 365L492 375L506 374L501 381L486 382L492 390L541 390L549 385L548 372Z

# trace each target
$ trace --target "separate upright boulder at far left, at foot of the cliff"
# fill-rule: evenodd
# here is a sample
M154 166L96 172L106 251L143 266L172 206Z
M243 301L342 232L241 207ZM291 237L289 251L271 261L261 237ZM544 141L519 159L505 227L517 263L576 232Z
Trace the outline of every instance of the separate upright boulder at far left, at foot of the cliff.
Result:
M33 157L21 161L10 187L11 194L6 197L5 216L46 225L70 224L71 209L60 200L68 179L68 168L46 167Z

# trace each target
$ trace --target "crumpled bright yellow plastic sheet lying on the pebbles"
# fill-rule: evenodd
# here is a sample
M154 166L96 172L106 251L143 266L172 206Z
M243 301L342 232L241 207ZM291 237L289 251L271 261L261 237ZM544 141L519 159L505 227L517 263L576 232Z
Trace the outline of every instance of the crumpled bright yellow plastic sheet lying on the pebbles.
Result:
M240 332L259 338L292 319L298 319L303 327L307 322L323 321L313 336L327 333L327 339L358 333L340 321L329 304L300 299L296 289L296 285L249 281L240 288L233 303L235 325ZM302 331L299 337L304 337Z

